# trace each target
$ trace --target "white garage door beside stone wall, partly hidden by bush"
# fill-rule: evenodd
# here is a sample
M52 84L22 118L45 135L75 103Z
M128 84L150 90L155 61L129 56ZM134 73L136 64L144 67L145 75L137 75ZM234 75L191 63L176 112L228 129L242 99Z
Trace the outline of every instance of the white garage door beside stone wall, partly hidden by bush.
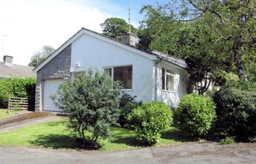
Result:
M54 112L61 112L60 109L56 108L53 105L52 99L50 99L50 95L53 95L56 93L57 87L64 82L63 79L47 79L45 80L44 85L44 92L43 92L43 103L42 103L42 109L44 111L54 111Z

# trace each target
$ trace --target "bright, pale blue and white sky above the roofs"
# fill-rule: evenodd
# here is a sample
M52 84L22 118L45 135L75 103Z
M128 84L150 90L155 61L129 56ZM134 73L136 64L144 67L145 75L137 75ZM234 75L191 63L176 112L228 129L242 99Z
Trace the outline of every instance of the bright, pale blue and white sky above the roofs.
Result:
M143 20L140 8L167 0L131 0L131 21ZM128 22L129 0L0 0L0 61L13 56L13 63L28 65L44 45L58 48L80 28L102 32L99 24L108 17ZM1 71L1 70L0 70Z

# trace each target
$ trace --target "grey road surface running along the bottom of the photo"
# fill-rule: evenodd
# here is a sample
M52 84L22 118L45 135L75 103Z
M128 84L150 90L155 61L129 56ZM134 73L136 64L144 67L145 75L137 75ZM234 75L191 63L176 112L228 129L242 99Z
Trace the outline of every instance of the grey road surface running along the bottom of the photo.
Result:
M181 144L120 152L77 152L0 147L0 163L256 163L256 143L225 146L217 143Z

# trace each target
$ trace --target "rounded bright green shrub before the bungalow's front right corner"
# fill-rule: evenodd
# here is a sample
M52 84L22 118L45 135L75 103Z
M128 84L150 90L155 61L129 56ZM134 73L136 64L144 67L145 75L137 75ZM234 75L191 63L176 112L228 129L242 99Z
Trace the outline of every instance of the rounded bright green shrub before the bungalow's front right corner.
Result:
M136 138L143 144L156 144L172 123L172 112L167 104L149 102L134 109L129 120L135 128Z

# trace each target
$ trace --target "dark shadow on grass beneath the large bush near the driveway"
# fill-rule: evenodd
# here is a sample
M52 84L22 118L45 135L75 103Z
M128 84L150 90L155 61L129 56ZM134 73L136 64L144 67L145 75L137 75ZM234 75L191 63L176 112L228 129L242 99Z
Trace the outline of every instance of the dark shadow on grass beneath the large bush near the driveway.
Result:
M59 135L59 134L49 134L49 135L40 135L34 141L29 141L30 144L36 146L41 146L45 148L53 149L99 149L101 146L97 144L97 147L91 147L91 144L88 144L88 147L84 146L83 143L75 136ZM88 142L89 143L89 142Z

